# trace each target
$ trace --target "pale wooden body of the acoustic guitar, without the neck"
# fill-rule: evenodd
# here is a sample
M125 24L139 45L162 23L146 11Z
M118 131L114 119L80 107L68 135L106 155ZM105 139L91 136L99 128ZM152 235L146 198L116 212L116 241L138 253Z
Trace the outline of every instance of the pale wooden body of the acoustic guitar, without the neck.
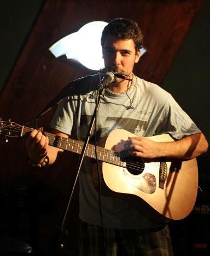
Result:
M124 150L124 141L135 136L123 129L113 130L104 147L112 150L116 145ZM149 137L154 141L173 141L170 135ZM120 149L121 146L121 149ZM139 163L142 165L142 163ZM160 184L160 166L164 164L166 179ZM171 162L143 162L141 173L133 174L129 169L102 162L101 193L103 196L128 200L150 219L167 222L185 218L193 209L198 186L196 159ZM94 184L98 188L97 169L93 170Z

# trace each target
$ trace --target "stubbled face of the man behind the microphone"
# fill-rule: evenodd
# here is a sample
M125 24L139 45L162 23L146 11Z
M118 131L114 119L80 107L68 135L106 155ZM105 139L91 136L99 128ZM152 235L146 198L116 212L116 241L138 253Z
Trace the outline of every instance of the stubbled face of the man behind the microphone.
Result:
M113 35L106 37L103 46L103 59L106 69L131 76L133 66L139 58L140 50L136 53L133 39L119 40Z

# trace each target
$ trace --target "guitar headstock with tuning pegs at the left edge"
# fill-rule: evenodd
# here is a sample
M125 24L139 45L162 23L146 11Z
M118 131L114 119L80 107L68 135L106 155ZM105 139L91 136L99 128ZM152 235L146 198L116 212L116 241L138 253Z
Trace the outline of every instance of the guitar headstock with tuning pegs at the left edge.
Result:
M22 126L20 124L0 120L0 134L7 137L20 136Z

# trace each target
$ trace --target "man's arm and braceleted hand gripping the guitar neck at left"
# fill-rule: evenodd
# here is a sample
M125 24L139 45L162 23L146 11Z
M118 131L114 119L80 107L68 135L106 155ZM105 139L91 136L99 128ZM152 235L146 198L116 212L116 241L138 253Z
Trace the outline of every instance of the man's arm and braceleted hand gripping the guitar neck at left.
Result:
M53 130L54 134L68 138L68 134L62 133L59 130ZM49 145L48 136L45 136L40 130L33 130L26 140L26 148L28 152L28 158L33 163L42 163L46 156L49 158L48 164L53 164L59 157L59 152L63 152L62 149Z

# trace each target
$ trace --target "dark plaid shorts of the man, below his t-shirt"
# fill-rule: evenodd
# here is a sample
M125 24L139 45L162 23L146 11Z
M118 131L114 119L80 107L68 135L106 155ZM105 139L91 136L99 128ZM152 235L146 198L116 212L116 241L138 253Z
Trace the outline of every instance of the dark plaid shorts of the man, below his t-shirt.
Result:
M79 256L172 256L168 226L120 230L80 223Z

